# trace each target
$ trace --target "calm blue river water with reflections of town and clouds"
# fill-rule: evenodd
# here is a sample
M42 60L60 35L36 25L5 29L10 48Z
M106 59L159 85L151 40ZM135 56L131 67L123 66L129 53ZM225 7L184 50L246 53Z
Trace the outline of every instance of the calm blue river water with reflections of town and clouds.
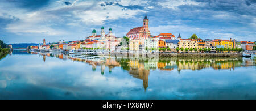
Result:
M14 50L0 60L0 99L256 99L255 63Z

